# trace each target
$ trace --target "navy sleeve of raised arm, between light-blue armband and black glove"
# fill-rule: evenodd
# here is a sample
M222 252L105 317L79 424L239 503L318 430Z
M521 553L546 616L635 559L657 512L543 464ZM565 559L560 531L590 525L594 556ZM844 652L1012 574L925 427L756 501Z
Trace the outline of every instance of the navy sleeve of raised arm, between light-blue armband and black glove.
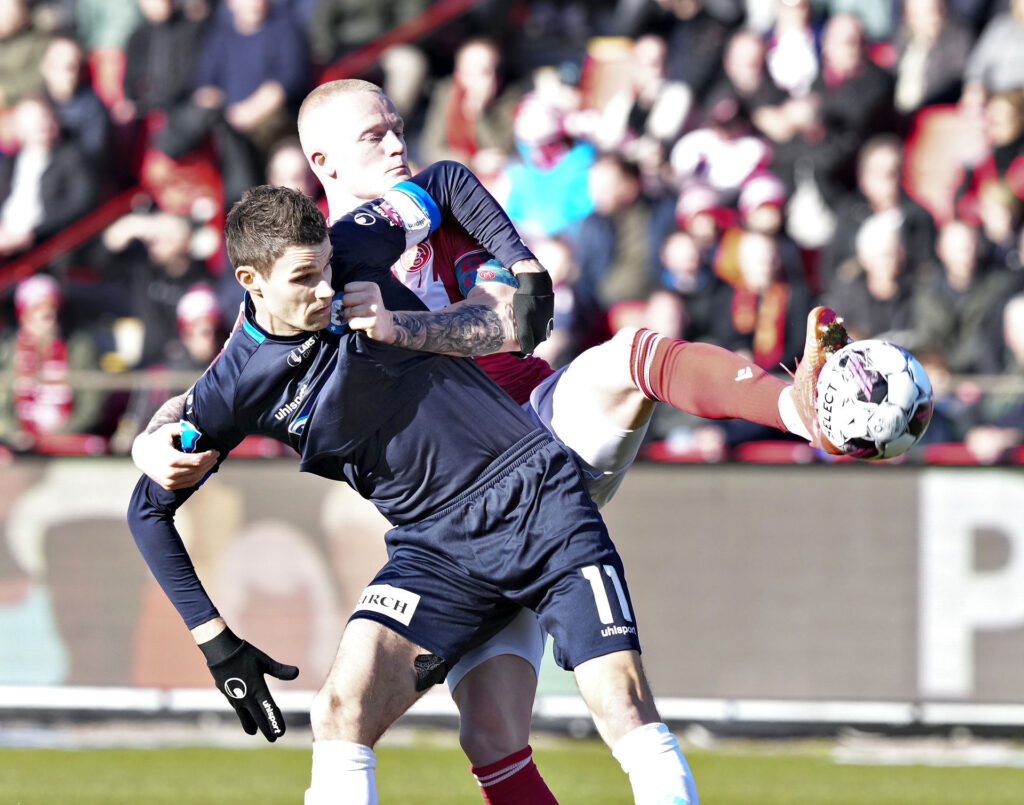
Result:
M427 192L442 216L458 221L502 265L534 258L505 210L465 165L437 162L414 176L412 182Z

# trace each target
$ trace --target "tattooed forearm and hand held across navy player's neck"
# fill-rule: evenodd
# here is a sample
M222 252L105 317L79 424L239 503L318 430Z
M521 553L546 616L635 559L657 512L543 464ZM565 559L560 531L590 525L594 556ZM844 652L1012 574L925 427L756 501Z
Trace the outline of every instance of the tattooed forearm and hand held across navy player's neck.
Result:
M349 283L342 304L353 330L375 341L446 355L488 355L519 348L510 286L476 285L461 302L440 310L388 310L376 283Z

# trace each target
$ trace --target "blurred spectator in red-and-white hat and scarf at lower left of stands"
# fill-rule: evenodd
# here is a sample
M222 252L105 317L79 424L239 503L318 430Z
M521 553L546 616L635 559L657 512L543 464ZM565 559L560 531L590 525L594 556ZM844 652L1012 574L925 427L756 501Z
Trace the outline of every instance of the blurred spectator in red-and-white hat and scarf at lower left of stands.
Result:
M60 333L60 288L36 274L14 291L17 329L0 342L0 372L12 382L0 387L0 441L30 450L40 437L80 433L101 413L100 392L73 389L69 372L95 369L96 351L85 334Z

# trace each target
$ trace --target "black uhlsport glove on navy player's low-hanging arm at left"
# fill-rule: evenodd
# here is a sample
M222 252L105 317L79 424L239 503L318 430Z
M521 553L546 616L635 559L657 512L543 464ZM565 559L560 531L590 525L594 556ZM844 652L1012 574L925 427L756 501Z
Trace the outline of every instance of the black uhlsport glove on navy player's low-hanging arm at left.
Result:
M259 729L273 743L285 734L285 718L266 687L264 674L278 679L295 679L299 669L271 660L230 629L200 643L206 665L220 692L239 714L242 728L250 735Z

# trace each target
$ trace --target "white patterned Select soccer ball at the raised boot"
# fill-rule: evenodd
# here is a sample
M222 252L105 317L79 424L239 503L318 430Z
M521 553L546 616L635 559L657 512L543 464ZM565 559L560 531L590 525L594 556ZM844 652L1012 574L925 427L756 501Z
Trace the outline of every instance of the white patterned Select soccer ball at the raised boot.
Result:
M828 357L817 383L821 432L847 456L891 459L918 443L935 408L924 367L888 341L854 341Z

